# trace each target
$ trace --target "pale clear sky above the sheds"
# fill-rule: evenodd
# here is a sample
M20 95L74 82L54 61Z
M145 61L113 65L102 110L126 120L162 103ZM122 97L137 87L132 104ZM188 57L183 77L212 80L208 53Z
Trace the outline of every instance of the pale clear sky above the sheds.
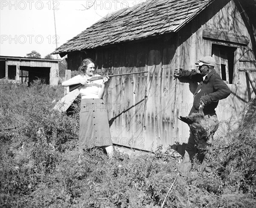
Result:
M25 57L35 50L44 58L56 43L61 46L105 15L143 1L0 0L0 55Z

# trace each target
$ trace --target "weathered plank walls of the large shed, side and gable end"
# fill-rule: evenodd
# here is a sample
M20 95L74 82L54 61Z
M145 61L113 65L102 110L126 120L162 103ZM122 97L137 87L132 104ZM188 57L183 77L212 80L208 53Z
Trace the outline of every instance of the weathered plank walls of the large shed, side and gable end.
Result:
M222 30L249 38L249 44L229 43L203 38L204 29ZM212 44L236 48L232 94L220 101L216 111L219 120L239 116L244 105L255 95L245 72L239 68L255 67L255 38L251 25L238 3L215 1L177 33L142 42L123 43L101 49L68 55L68 68L77 69L86 57L94 58L98 73L119 74L147 70L147 74L111 78L105 99L113 142L143 150L178 145L180 153L189 137L189 127L178 120L192 108L193 93L198 83L174 79L175 68L195 69L195 61L212 55ZM252 66L251 66L252 65ZM253 72L254 78L256 72ZM225 132L221 125L216 135Z

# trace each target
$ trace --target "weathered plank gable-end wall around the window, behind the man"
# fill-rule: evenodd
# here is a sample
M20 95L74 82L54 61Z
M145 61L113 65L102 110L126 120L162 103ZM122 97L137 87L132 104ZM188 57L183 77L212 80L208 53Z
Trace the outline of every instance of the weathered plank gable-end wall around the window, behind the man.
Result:
M178 44L177 49L178 63L180 63L179 67L183 69L193 69L195 68L193 64L198 58L205 55L212 55L212 44L236 48L234 54L233 84L228 84L232 94L228 98L221 100L216 109L219 120L223 121L223 124L221 124L221 127L216 133L218 136L224 135L227 130L224 121L229 120L230 117L234 115L238 117L245 104L251 98L255 97L245 72L239 71L239 69L244 68L256 69L255 35L253 34L252 25L249 23L246 13L238 2L234 2L233 0L215 1L208 9L201 12L191 23L188 23L178 32L178 40L181 40L181 44ZM244 45L203 38L203 30L208 28L228 32L231 35L246 36L249 38L249 43L248 45ZM216 68L218 68L217 65L215 66L215 69ZM218 70L217 72L220 73ZM256 79L256 72L253 71L252 74ZM195 85L194 87L192 84L193 83L178 84L178 103L189 103L189 100L192 100L192 93L187 94L189 90L193 92L197 86ZM180 128L179 125L178 128ZM183 137L182 134L179 136Z

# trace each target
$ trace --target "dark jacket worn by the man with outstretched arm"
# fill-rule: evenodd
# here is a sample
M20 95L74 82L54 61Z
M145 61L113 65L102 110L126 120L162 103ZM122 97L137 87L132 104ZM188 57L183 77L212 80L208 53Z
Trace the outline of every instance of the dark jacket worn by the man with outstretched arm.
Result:
M231 93L227 84L224 83L215 69L212 69L205 79L203 79L201 73L196 72L194 69L192 71L180 70L180 72L180 78L186 77L192 81L200 82L198 88L195 90L194 103L190 113L198 111L200 99L202 99L205 104L204 115L213 115L215 114L215 108L218 105L218 101L227 98Z

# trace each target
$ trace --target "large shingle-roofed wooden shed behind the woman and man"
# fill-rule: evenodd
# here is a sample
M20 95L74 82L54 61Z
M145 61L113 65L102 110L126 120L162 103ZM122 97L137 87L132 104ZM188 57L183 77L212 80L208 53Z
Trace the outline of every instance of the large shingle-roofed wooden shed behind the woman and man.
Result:
M67 55L72 71L87 57L102 75L148 71L108 84L113 143L153 151L176 144L182 150L189 127L178 117L189 114L198 83L174 79L174 70L195 69L199 58L213 56L232 91L219 102L218 119L238 117L255 97L246 75L256 78L255 8L254 0L148 0L102 18L53 54ZM224 123L216 135L225 133Z

